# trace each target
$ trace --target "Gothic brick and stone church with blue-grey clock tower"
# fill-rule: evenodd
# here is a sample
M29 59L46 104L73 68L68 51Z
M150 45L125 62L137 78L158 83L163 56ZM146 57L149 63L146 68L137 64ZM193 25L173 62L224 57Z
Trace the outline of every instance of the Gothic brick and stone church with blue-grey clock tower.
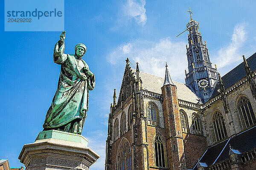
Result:
M256 169L256 53L221 77L190 18L186 84L171 79L167 63L162 78L126 59L105 170Z

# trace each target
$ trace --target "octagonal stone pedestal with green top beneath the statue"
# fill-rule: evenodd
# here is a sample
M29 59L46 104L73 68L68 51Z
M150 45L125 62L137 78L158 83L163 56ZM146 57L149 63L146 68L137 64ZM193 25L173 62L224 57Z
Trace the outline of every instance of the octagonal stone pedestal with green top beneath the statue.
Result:
M18 159L26 170L89 170L99 155L87 143L78 134L42 131L34 143L24 144Z

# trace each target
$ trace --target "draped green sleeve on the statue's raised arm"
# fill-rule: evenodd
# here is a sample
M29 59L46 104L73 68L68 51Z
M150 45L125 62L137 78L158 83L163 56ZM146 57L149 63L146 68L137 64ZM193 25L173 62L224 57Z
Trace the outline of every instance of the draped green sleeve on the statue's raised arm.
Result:
M63 43L56 42L53 51L53 60L56 64L62 64L67 60L67 54L64 54L65 45Z

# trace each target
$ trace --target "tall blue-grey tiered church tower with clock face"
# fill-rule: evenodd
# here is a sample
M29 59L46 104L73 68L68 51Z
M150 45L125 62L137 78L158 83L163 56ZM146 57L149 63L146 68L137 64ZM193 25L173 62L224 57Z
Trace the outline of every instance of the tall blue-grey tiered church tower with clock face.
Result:
M198 21L192 20L192 12L189 8L190 21L186 25L188 34L189 47L186 45L188 69L186 73L186 84L190 85L202 99L206 102L209 99L209 95L217 81L217 69L212 67L212 63L209 58L208 48L206 42L202 41L201 32L198 32Z

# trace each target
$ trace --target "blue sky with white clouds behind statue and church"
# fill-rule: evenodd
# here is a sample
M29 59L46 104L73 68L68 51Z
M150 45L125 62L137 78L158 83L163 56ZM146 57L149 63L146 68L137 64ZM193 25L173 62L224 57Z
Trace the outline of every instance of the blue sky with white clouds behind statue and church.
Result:
M34 142L43 130L57 88L60 65L52 53L61 32L5 32L3 0L0 5L0 159L20 167L23 144ZM253 0L65 1L65 53L73 54L74 46L84 43L83 59L96 75L82 133L101 156L90 170L104 170L109 107L113 89L119 92L127 57L160 77L168 62L172 79L184 82L187 33L175 36L186 29L189 6L221 75L239 64L241 55L256 52Z

